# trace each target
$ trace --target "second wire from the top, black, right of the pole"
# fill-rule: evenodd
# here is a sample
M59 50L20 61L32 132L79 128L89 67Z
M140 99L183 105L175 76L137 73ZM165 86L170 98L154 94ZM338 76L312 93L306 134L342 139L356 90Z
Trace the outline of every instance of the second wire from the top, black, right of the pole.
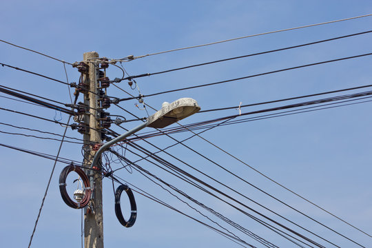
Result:
M213 64L213 63L220 63L220 62L230 61L230 60L234 60L234 59L247 58L249 56L269 54L271 52L280 52L280 51L284 51L284 50L290 50L290 49L293 49L293 48L301 48L301 47L304 47L304 46L307 46L307 45L315 45L315 44L323 43L323 42L327 42L327 41L335 41L337 39L354 37L354 36L357 36L357 35L360 35L360 34L368 34L370 32L372 32L372 30L365 31L365 32L358 32L358 33L355 33L355 34L348 34L348 35L344 35L344 36L341 36L341 37L335 37L335 38L331 38L331 39L324 39L324 40L321 40L321 41L313 41L313 42L310 42L310 43L304 43L302 45L293 45L293 46L290 46L290 47L287 47L287 48L278 48L278 49L269 50L269 51L266 51L266 52L257 52L257 53L254 53L254 54L235 56L235 57L232 57L232 58L229 58L229 59L220 59L220 60L217 60L217 61L211 61L211 62L206 62L206 63L198 63L196 65L188 65L188 66L184 66L184 67L181 67L181 68L174 68L174 69L170 69L170 70L164 70L162 72L145 73L145 74L140 74L140 75L136 75L136 76L127 76L125 79L122 79L122 80L132 80L132 79L136 79L136 78L143 77L143 76L152 76L152 75L156 75L156 74L174 72L174 71L177 71L177 70L184 70L184 69L194 68L194 67L201 66L201 65L210 65L210 64Z

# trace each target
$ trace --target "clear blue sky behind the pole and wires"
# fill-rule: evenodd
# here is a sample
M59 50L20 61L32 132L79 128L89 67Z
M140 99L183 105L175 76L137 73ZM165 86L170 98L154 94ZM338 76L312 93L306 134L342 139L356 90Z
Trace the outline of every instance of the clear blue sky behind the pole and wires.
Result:
M14 0L1 1L0 39L72 63L81 61L84 52L96 51L100 56L120 59L131 54L140 56L190 45L200 45L250 34L294 28L370 13L372 13L371 1L344 0ZM371 24L372 17L365 17L240 39L203 48L147 56L143 59L123 63L123 66L132 75L159 72L196 63L255 52L265 52L291 45L369 31L371 30ZM363 34L337 41L309 45L304 48L144 77L136 81L141 93L146 95L181 87L235 79L308 63L366 54L371 52L371 38L371 33ZM6 63L66 81L63 63L59 61L54 61L45 56L21 50L1 42L0 55L0 63ZM372 76L371 62L371 56L364 56L210 87L145 97L145 103L159 109L164 101L172 102L181 97L191 97L198 101L202 110L209 110L218 107L236 106L240 102L242 105L247 105L369 85L371 84ZM70 65L67 65L66 68L68 80L70 82L78 81L79 72ZM118 68L110 66L107 70L107 76L110 79L114 79L115 77L121 77L122 72ZM0 79L1 85L6 87L31 92L62 103L70 102L68 86L61 83L6 67L0 67ZM135 96L138 95L138 90L131 90L127 85L127 81L123 81L118 86ZM368 90L369 88L366 88L284 103L246 107L242 108L242 113ZM118 98L129 97L113 86L107 89L107 94ZM6 96L6 94L1 93L0 96ZM364 100L369 101L369 99ZM0 103L3 108L28 112L51 120L61 119L62 123L66 123L68 120L66 114L4 97L0 98ZM144 110L136 107L136 103L138 101L130 100L123 101L119 105L125 110L136 114L136 116L147 116ZM142 107L142 104L139 104L139 107ZM298 214L289 207L278 203L273 198L262 194L254 187L218 168L211 161L218 163L218 165L240 176L252 185L282 200L287 205L291 205L293 208L311 216L311 218L318 220L323 225L338 231L343 236L360 243L364 247L371 247L371 237L362 234L353 227L342 223L342 221L294 196L247 166L258 169L258 171L292 189L304 198L311 200L332 214L371 234L371 107L371 102L366 102L327 110L267 118L259 121L216 127L200 135L207 141L236 156L246 165L221 152L220 149L199 137L189 139L185 142L185 145L192 147L209 160L192 152L183 145L176 145L167 149L169 154L179 158L180 161L184 161L217 181L229 185L241 195L231 192L231 190L194 172L185 164L167 154L158 153L158 156L198 176L198 178L226 192L229 196L269 216L269 218L273 218L312 240L320 242L324 247L335 246L320 240L320 238L309 234L307 231L299 229L272 212L262 209L262 207L252 203L243 196L265 205L339 247L360 246ZM147 107L147 111L149 114L154 113L154 110L149 107ZM134 118L115 106L110 107L108 112L125 116L127 119ZM180 121L180 123L185 125L234 114L238 114L238 110L200 113ZM236 120L242 120L246 117L251 116L241 116L236 118ZM4 110L1 110L1 123L57 134L63 134L64 130L64 127L58 124ZM124 123L123 127L130 129L139 124L139 121L134 121ZM174 127L177 127L177 125L174 125ZM112 128L116 132L123 132L121 128L114 127L114 125ZM0 131L52 137L48 134L19 130L8 125L0 125ZM143 130L142 132L147 131L149 130ZM202 130L198 130L198 132L200 131ZM81 138L81 134L71 129L68 130L68 136ZM190 136L192 136L190 132L172 134L172 137L178 140L183 140ZM56 155L59 147L58 141L4 133L0 134L0 140L1 144L52 155ZM149 138L147 141L161 149L175 143L167 136ZM158 149L143 141L138 141L137 143L151 152L158 151ZM0 154L2 169L2 180L0 180L2 189L0 245L1 247L27 247L45 187L48 183L53 161L6 147L0 147ZM63 144L61 156L81 161L81 145L74 143ZM129 150L125 153L125 156L131 161L138 160L138 156L132 154ZM278 247L297 247L273 231L251 220L251 218L241 214L233 207L200 192L195 187L183 183L159 169L156 165L146 161L138 162L138 165ZM113 168L120 166L112 163ZM81 245L81 211L65 205L59 193L58 178L63 167L65 167L63 163L56 164L56 171L52 177L52 183L41 212L37 231L34 234L32 247L80 247ZM138 174L138 172L133 171L133 173L130 173L125 169L121 169L116 172L116 175L125 178L129 183L164 200L166 203L180 209L180 211L208 225L220 228L180 202L177 198L174 198L174 196L158 185ZM117 187L118 184L115 186ZM240 247L231 240L196 223L194 220L158 205L158 203L154 203L139 194L134 193L134 195L136 197L138 217L133 227L125 228L118 223L114 214L112 183L109 179L104 179L103 220L105 247ZM129 207L125 197L123 194L123 212L125 218L127 218ZM179 195L178 197L183 198ZM227 201L245 209L231 200ZM263 247L249 236L212 216L205 209L201 209L188 200L187 203L196 207L196 209L221 226L229 229L242 240L256 247ZM245 211L252 214L248 209L245 209Z

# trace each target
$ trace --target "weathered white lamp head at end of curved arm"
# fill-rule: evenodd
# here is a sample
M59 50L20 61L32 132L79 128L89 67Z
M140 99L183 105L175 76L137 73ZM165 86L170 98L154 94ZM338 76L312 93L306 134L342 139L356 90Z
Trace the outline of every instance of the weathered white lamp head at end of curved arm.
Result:
M194 99L182 98L173 103L163 103L161 110L147 118L147 127L163 128L191 116L200 110Z

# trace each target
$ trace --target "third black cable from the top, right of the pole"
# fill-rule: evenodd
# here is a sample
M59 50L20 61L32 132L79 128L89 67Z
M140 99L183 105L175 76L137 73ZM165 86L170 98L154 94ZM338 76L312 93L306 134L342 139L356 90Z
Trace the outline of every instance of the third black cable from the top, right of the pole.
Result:
M218 81L218 82L214 82L214 83L205 83L205 84L202 84L202 85L194 85L194 86L190 86L190 87L183 87L183 88L176 89L176 90L167 90L167 91L164 91L164 92L158 92L158 93L154 93L154 94L143 95L142 97L157 96L159 94L178 92L178 91L181 91L181 90L191 90L191 89L195 89L195 88L198 88L198 87L206 87L206 86L211 86L211 85L217 85L217 84L220 84L220 83L229 83L229 82L232 82L232 81L238 81L238 80L242 80L242 79L250 79L250 78L253 78L253 77L256 77L256 76L264 76L264 75L273 74L273 73L277 73L277 72L285 72L285 71L288 71L288 70L306 68L306 67L313 66L313 65L321 65L321 64L324 64L324 63L331 63L331 62L335 62L335 61L343 61L343 60L347 60L347 59L355 59L355 58L359 58L359 57L362 57L362 56L369 56L369 55L372 55L372 52L367 53L367 54L348 56L348 57L344 57L344 58L340 58L340 59L332 59L332 60L329 60L329 61L321 61L321 62L316 62L316 63L309 63L309 64L306 64L306 65L298 65L298 66L291 67L291 68L273 70L271 72L262 72L262 73L259 73L259 74L254 74L254 75L249 75L249 76L242 76L242 77L237 78L237 79L228 79L228 80ZM126 98L126 99L120 99L119 101L127 101L127 100L132 100L132 99L138 99L138 96L130 97L130 98Z

